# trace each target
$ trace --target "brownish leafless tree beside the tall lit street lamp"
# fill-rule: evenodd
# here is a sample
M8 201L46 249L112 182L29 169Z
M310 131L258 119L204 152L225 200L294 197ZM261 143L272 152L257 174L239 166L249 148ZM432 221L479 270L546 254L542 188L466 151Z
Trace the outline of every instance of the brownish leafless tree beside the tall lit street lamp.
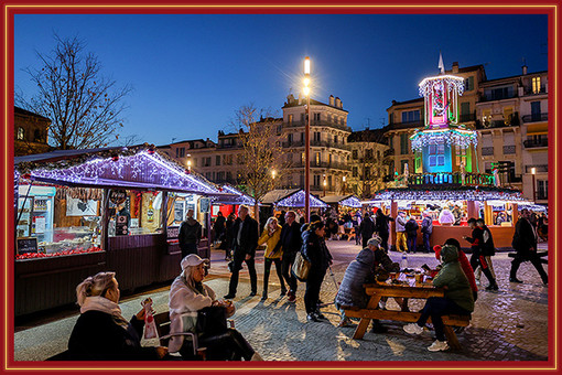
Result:
M231 124L238 129L242 146L240 182L246 186L246 193L256 201L275 188L289 167L281 132L278 131L281 124L281 119L273 118L269 111L258 110L252 104L240 107ZM255 208L259 222L258 204Z

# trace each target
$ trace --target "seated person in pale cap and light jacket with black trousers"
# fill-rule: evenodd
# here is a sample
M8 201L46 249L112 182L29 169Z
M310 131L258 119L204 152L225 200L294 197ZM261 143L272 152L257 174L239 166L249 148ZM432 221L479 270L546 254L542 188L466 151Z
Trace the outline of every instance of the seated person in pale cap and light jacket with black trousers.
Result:
M208 259L202 259L190 254L182 259L182 274L175 278L170 287L170 333L182 333L182 314L197 312L208 307L223 307L226 317L231 317L236 308L231 301L217 301L216 294L207 285L203 283L208 267ZM198 333L199 346L207 349L207 360L262 361L260 355L244 339L240 332L226 329L219 334ZM182 357L191 358L193 347L183 335L170 339L170 352L180 352Z

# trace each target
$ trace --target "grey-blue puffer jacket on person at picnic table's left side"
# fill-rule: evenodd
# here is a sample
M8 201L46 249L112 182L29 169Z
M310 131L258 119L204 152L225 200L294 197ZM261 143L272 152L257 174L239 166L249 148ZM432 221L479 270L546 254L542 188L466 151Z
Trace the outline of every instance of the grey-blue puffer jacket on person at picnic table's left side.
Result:
M369 296L365 293L364 283L375 282L375 253L364 248L357 254L345 270L344 279L337 291L335 303L342 306L366 308Z

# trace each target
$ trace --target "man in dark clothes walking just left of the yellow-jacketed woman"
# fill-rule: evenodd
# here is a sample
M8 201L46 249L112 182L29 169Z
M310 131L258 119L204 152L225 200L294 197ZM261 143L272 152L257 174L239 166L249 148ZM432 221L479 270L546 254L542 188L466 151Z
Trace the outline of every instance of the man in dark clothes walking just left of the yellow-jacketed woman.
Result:
M248 266L250 274L251 293L253 297L258 293L258 277L256 275L256 248L258 247L258 222L256 222L249 213L247 205L241 205L238 208L238 218L235 221L233 232L233 275L230 276L230 283L228 286L228 294L226 299L236 297L236 289L238 288L238 276L242 269L242 262Z

